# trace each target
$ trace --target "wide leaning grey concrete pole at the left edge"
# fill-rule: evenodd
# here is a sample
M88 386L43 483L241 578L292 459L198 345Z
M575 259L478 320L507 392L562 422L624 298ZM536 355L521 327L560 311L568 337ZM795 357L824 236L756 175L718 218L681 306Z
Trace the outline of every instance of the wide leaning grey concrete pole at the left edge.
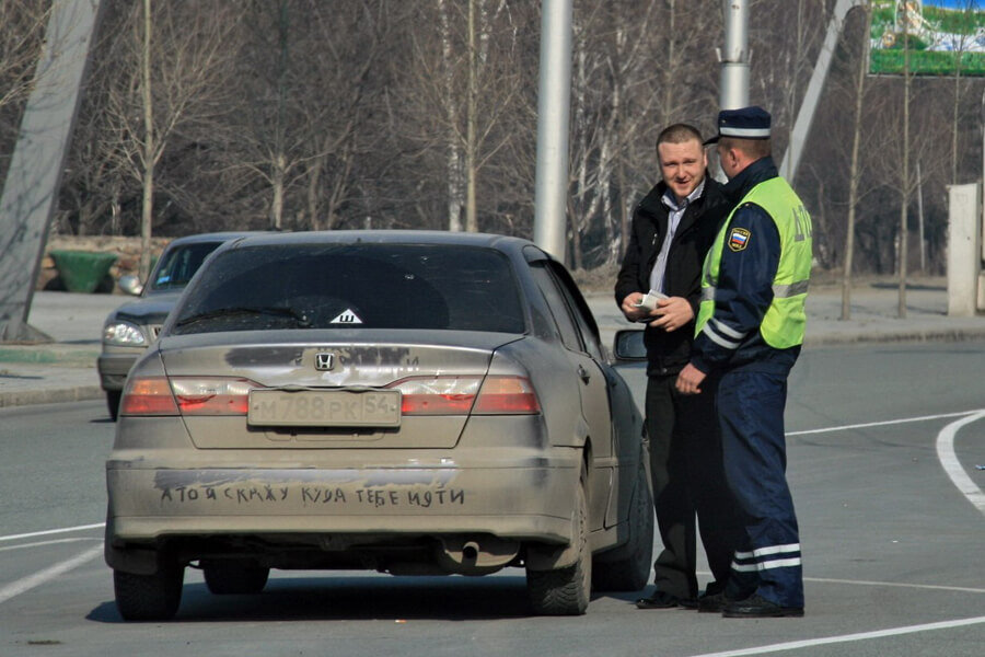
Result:
M50 338L27 324L101 0L55 0L0 196L0 342Z

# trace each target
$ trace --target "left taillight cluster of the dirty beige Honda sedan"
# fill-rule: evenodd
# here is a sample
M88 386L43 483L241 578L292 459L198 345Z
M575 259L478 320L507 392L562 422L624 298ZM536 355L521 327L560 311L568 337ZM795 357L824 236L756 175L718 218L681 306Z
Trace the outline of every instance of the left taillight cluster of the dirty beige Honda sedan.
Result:
M222 377L146 377L127 383L121 415L246 415L247 379Z

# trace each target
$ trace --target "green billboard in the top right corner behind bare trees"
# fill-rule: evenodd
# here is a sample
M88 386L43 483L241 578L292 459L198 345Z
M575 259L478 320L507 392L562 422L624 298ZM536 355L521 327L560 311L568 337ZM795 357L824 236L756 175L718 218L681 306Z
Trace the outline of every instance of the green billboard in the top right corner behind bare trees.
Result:
M977 0L871 0L869 72L985 76L985 10ZM960 69L959 69L960 65Z

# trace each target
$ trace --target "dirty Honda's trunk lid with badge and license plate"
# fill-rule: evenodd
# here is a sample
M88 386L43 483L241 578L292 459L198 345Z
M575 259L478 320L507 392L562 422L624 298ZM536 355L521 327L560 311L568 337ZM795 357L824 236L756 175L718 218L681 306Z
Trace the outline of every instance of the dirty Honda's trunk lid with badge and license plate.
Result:
M337 334L326 341L305 337L267 344L262 334L239 334L235 345L213 336L165 338L161 356L175 390L217 374L252 382L246 414L183 412L195 446L454 447L468 416L467 402L439 414L430 414L427 405L424 414L408 414L408 403L419 401L421 391L461 402L463 387L477 385L487 373L494 350L517 338L456 335L460 344L448 346L425 335L385 342L338 339ZM392 407L402 402L403 413Z

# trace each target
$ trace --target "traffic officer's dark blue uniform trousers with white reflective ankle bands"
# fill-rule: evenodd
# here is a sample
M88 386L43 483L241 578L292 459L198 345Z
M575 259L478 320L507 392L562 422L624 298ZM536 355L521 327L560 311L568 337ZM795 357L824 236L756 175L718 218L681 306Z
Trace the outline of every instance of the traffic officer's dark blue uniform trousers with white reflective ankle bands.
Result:
M803 574L784 437L786 374L732 371L718 387L726 479L745 525L727 595L803 607Z

